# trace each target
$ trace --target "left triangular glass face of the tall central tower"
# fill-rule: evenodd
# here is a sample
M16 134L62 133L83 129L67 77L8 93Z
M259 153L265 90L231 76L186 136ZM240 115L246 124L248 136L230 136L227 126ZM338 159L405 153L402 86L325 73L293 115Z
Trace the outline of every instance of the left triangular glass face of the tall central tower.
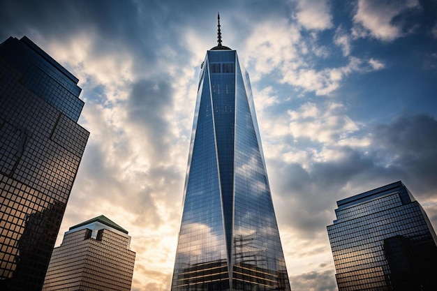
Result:
M208 64L205 66L172 291L229 288Z

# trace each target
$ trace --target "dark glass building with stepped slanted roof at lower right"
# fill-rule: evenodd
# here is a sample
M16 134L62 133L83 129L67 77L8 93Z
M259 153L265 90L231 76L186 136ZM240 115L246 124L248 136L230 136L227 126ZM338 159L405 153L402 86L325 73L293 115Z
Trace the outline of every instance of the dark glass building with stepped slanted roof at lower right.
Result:
M327 231L339 291L436 290L436 233L401 181L337 206Z

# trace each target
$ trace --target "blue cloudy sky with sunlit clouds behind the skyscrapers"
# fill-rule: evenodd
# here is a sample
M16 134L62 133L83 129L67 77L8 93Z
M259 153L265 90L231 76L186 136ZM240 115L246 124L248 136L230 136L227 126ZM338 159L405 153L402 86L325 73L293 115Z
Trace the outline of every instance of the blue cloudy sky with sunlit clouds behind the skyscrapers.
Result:
M403 181L437 227L437 1L8 1L80 79L91 132L57 241L104 214L129 231L132 290L169 290L206 50L251 76L293 290L336 290L336 200Z

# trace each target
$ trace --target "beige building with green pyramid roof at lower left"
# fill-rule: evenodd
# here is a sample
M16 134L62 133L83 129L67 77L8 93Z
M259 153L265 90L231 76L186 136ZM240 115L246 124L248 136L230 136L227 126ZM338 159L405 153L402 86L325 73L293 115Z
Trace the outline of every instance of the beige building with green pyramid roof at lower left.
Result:
M43 291L129 291L135 252L131 237L105 216L70 227L54 248Z

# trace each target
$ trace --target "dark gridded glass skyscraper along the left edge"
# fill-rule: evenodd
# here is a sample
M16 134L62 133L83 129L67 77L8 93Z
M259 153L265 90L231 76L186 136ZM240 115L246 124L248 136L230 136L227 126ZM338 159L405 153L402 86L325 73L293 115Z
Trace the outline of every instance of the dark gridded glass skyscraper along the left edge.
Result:
M77 78L29 38L0 44L0 290L41 290L89 132Z

